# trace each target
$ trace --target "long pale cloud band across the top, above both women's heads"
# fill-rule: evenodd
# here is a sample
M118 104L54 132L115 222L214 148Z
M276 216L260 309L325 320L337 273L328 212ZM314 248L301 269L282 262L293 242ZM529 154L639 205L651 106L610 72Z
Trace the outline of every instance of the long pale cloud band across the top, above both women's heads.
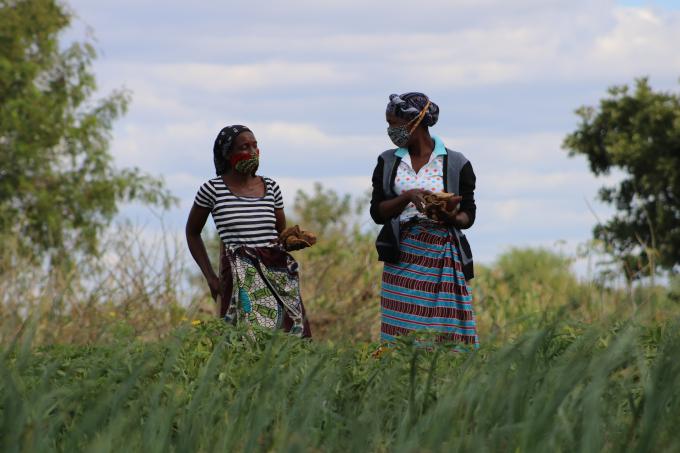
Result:
M485 11L481 23L453 30L369 33L331 27L311 28L306 34L265 29L238 36L197 31L169 38L186 49L183 60L107 64L133 85L153 80L149 85L174 86L177 94L189 89L230 96L313 87L335 91L376 78L439 89L546 79L610 80L612 75L652 72L677 76L680 56L674 43L680 41L680 14L605 5L581 4L579 9L555 2L552 9L534 7L505 20ZM447 11L457 14L457 8Z

